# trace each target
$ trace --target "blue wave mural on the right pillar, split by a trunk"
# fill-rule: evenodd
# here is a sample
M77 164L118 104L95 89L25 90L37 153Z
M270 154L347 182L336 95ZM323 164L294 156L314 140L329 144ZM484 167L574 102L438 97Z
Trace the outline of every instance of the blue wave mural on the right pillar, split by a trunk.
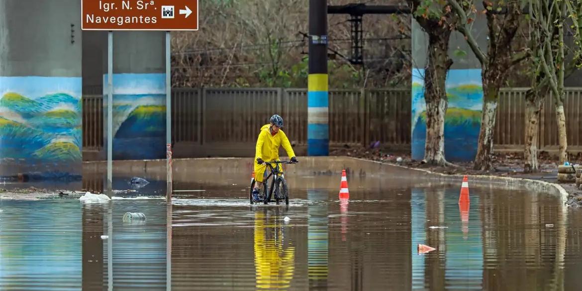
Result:
M424 158L427 134L424 101L424 69L412 75L412 158ZM481 69L452 69L446 76L449 107L445 115L445 158L452 162L473 161L481 128L483 90Z

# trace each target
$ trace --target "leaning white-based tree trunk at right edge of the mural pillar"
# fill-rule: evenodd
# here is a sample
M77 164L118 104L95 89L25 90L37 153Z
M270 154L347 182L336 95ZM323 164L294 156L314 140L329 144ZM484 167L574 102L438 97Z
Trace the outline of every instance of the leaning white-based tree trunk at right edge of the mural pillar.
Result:
M481 129L477 142L477 156L475 170L489 170L493 168L493 130L495 129L495 115L501 87L501 70L491 64L484 70L483 76L483 109L481 112Z

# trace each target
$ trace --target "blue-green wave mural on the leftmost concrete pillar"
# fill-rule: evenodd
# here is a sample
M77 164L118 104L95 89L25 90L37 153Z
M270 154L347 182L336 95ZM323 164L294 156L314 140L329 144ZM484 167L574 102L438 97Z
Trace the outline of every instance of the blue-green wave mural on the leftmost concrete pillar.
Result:
M81 109L80 77L0 77L3 168L27 178L80 179Z

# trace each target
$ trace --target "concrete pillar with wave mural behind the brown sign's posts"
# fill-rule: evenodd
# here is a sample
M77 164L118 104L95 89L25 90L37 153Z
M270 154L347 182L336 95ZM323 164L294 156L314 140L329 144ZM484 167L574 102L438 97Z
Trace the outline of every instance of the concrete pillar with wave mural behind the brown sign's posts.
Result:
M107 43L104 48L103 94L107 102ZM113 31L113 159L166 157L165 66L165 31ZM103 128L107 151L106 102Z

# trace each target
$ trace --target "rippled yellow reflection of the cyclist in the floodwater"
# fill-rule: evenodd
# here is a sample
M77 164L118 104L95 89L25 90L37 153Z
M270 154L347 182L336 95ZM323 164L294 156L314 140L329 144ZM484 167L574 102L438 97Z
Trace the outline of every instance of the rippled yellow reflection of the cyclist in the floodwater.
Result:
M255 212L254 255L258 289L289 288L293 279L295 247L283 247L281 217Z

